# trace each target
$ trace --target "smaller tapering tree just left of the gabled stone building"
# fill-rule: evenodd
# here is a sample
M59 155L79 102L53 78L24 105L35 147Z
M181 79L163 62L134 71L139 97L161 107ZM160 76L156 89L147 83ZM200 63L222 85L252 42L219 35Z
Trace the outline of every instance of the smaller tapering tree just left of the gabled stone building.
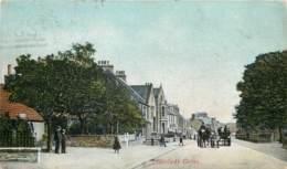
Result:
M113 74L106 73L104 118L109 134L136 130L144 125L144 118L125 85Z

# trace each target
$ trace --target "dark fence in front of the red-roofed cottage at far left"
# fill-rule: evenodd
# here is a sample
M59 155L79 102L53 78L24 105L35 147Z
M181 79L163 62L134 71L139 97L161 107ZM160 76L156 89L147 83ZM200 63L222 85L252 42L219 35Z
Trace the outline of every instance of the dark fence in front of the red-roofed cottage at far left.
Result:
M0 131L0 147L34 147L35 138L24 131Z

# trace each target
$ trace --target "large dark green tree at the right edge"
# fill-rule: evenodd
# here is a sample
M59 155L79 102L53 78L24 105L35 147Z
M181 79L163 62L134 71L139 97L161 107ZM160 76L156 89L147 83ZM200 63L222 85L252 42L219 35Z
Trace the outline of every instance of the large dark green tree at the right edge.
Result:
M237 124L246 130L279 129L287 123L287 51L261 54L237 84Z

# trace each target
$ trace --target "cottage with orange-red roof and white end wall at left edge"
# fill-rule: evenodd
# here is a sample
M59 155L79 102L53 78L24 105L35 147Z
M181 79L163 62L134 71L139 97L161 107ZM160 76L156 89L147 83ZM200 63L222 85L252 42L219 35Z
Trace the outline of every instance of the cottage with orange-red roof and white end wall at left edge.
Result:
M31 125L36 141L41 140L45 129L43 117L31 107L20 103L11 103L9 95L3 89L3 84L0 84L0 116L8 116L11 119L25 119Z

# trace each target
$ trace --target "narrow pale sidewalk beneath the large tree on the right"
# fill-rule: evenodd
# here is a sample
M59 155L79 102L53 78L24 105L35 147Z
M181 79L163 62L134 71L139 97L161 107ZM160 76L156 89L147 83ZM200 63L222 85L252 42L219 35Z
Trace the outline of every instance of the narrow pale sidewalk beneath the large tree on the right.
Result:
M233 139L236 144L264 152L266 155L273 156L277 159L287 161L287 149L281 147L279 142L265 142L265 144L255 144L249 141L244 141L240 139Z

